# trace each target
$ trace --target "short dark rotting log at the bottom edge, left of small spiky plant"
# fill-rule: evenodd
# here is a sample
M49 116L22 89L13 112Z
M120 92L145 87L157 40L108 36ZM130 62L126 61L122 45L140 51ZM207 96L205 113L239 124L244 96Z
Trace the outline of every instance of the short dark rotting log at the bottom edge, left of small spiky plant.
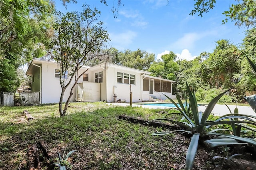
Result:
M41 169L38 148L36 144L28 146L28 169L29 170L38 170Z

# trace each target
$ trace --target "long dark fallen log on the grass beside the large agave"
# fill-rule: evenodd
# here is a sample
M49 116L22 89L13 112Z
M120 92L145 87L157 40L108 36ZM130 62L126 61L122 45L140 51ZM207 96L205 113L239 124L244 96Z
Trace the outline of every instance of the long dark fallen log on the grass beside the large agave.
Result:
M168 128L168 129L175 129L175 130L180 129L180 127L178 127L178 126L168 125L166 123L162 123L162 122L158 122L158 121L152 121L152 122L146 123L146 122L148 122L148 120L144 120L142 118L134 118L134 117L126 116L126 115L120 115L119 119L127 120L132 123L140 123L142 125L151 126L151 127L164 127L164 128Z

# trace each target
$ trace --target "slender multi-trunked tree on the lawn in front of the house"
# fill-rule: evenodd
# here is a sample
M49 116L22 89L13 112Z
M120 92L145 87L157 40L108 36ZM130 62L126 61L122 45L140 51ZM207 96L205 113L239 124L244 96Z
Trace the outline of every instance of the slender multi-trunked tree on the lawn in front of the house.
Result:
M56 14L56 22L53 27L55 37L51 47L54 59L60 64L60 95L59 112L60 116L66 115L68 104L78 79L87 71L78 74L78 70L86 62L97 57L101 52L104 43L107 42L107 31L102 28L103 22L98 21L100 11L96 8L90 9L84 5L82 12L67 12ZM70 79L62 76L68 71ZM72 79L75 83L71 85ZM67 87L71 85L70 95L62 108L63 96Z

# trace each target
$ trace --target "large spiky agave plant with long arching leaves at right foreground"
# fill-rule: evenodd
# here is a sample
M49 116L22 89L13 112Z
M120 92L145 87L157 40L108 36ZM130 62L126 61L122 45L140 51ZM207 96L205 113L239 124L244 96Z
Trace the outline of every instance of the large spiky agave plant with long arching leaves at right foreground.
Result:
M256 146L256 140L250 139L250 138L242 138L240 136L234 136L234 135L227 135L222 133L217 133L218 131L228 130L232 131L230 129L226 128L217 128L213 130L209 130L212 128L213 125L239 125L241 126L242 123L244 124L251 124L256 126L256 122L252 119L256 119L255 116L250 115L237 115L237 114L228 114L220 117L216 121L207 121L209 115L212 112L212 109L225 93L227 93L229 90L224 91L220 95L216 96L210 103L207 105L204 113L198 111L198 104L196 101L195 93L192 93L190 90L190 87L188 86L188 83L186 83L186 89L188 92L188 98L189 98L189 106L184 107L181 99L176 95L178 103L180 104L180 107L172 100L170 97L166 96L172 103L176 106L176 109L179 111L176 114L181 114L186 121L174 121L168 118L162 118L162 119L154 119L152 121L169 121L171 123L175 123L178 126L180 126L182 129L178 130L172 130L172 131L165 131L165 132L156 132L152 135L166 135L171 134L174 132L185 132L192 135L190 145L188 147L188 151L186 154L186 163L185 163L185 169L191 170L193 168L194 160L196 157L196 152L198 148L199 142L206 142L208 138L214 138L210 140L210 145L206 143L206 146L209 148L216 147L216 146L223 146L223 145L234 145L234 144L250 144L253 146ZM189 117L188 114L190 113L190 110L192 112L192 117ZM239 120L236 120L239 119ZM184 120L182 119L182 120ZM242 121L246 120L246 121ZM244 126L244 128L250 129L250 127ZM253 129L250 129L253 130ZM234 133L234 132L233 132ZM230 141L230 139L232 141Z

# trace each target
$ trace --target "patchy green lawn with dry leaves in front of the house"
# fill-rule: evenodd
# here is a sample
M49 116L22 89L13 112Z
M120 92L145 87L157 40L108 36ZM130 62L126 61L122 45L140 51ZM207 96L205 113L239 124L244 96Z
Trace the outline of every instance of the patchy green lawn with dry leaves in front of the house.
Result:
M24 110L35 119L27 122ZM151 120L166 113L100 102L71 103L68 115L60 118L58 105L0 107L0 169L19 169L27 160L28 144L38 140L43 140L50 156L56 158L55 139L61 153L67 144L68 152L77 150L68 160L73 169L99 169L98 158L108 169L184 168L189 138L180 134L151 136L164 129L119 120L119 115ZM198 161L195 166L208 167L200 158Z

